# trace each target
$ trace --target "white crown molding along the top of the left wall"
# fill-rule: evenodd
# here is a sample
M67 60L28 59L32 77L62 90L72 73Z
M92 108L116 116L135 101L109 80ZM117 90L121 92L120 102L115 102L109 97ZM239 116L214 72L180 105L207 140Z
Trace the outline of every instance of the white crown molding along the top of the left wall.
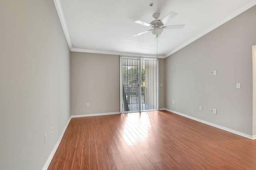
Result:
M64 34L66 36L66 40L68 42L68 47L71 51L71 49L73 48L73 45L72 45L72 41L71 41L71 38L70 38L70 34L69 34L69 31L68 31L68 26L67 26L67 23L66 23L66 19L64 17L64 13L63 13L63 10L62 10L60 0L54 0L54 4L55 4L55 7L56 7L58 16L60 18L60 23L62 25L62 29L63 29Z

